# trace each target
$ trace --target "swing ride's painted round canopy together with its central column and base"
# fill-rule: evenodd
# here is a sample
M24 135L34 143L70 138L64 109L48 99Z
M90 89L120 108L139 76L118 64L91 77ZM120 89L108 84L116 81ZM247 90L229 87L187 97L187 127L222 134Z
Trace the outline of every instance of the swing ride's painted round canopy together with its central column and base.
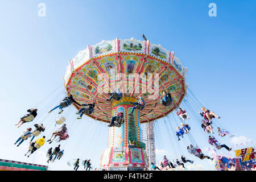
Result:
M142 142L141 123L166 117L180 105L186 92L187 68L174 52L149 40L115 39L88 46L69 60L63 77L67 94L82 104L95 103L88 117L110 123L113 116L123 113L109 128L108 146L101 156L102 170L144 170L148 168L146 145ZM121 96L115 94L119 91ZM163 91L172 102L163 105ZM113 94L112 100L109 99ZM144 107L131 110L139 97ZM82 106L73 104L77 110Z

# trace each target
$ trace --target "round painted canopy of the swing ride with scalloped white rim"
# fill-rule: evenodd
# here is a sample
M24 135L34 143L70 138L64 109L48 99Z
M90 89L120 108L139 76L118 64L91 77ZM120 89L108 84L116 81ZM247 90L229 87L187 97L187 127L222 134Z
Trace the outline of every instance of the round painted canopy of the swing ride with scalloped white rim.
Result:
M111 104L118 104L106 101L108 93L118 88L124 97L141 96L146 107L140 111L139 119L144 123L165 117L180 105L187 90L186 72L174 52L160 45L117 38L80 51L69 60L63 80L67 93L73 94L80 104L96 102L94 113L88 116L102 122L110 122ZM172 106L160 104L163 90L171 93Z

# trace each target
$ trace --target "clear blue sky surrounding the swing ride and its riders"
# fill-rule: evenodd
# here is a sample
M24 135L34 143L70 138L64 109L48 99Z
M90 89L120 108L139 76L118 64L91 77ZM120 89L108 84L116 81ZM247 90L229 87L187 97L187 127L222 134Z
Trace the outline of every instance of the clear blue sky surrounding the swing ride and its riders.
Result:
M40 2L46 4L46 17L38 16ZM208 15L211 2L217 5L217 17ZM205 106L221 115L222 126L236 137L255 140L255 6L255 1L216 0L1 1L0 158L32 162L32 155L31 159L24 157L27 141L20 148L13 144L30 124L20 129L14 124L57 86L59 89L51 97L59 100L51 105L61 100L61 77L69 59L103 39L142 39L142 33L150 42L175 51L188 67L189 88ZM47 106L47 101L43 105ZM54 120L53 115L50 117ZM49 135L53 125L50 119L47 122ZM98 158L106 148L106 125L96 122L91 126L93 121L86 118L74 122L70 127L74 131L72 139L63 143L67 154L63 161L50 164L51 169L72 169L67 161L77 157L91 158L94 166L100 162ZM101 129L101 134L93 133L97 129ZM194 135L202 148L210 147L202 135ZM232 144L229 138L220 140ZM35 162L48 146L38 150L36 158L33 156ZM76 154L77 147L80 151ZM189 154L185 155L189 158ZM196 162L214 169L207 162Z

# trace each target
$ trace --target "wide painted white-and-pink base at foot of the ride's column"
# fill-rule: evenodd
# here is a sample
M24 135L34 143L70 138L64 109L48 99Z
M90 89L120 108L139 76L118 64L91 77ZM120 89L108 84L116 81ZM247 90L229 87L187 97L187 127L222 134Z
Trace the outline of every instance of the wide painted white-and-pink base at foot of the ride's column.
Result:
M101 156L102 171L146 171L148 159L143 148L111 147Z

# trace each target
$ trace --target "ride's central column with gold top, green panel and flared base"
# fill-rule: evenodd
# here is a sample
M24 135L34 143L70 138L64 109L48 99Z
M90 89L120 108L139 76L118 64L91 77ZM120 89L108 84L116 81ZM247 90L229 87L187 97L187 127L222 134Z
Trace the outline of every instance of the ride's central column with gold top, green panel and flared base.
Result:
M139 111L129 115L134 107L131 102L137 102L136 98L125 96L120 101L112 101L112 117L123 112L124 123L109 129L108 148L101 157L104 170L144 170L148 166L146 145L141 142Z

